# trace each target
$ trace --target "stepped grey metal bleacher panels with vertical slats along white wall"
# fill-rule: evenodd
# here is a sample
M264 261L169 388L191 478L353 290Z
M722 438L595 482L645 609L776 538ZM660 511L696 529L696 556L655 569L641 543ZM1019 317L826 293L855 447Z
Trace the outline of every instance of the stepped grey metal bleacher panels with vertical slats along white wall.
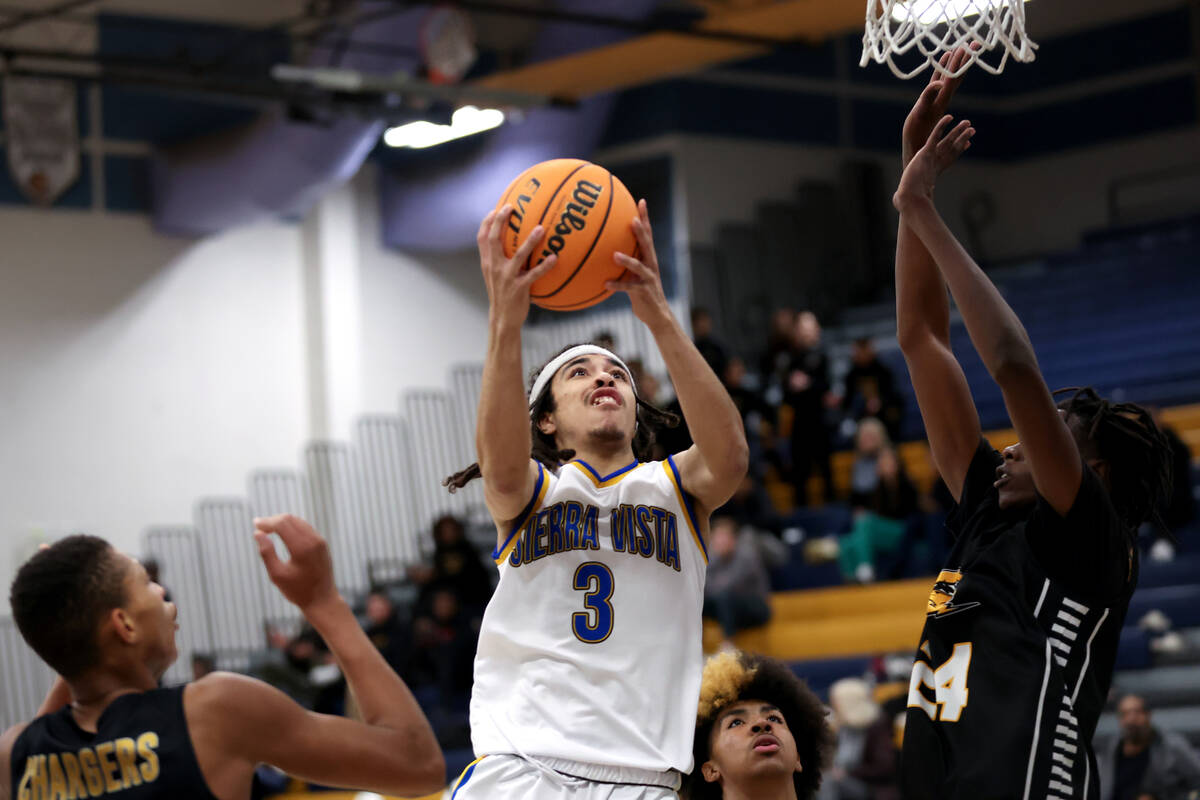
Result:
M672 307L688 319L683 301ZM626 356L664 369L649 332L628 308L528 326L524 362L538 365L600 330L610 331ZM266 648L268 626L299 624L299 613L259 564L251 535L256 516L290 512L311 519L329 540L340 589L352 597L382 575L403 576L406 565L428 555L427 531L438 516L479 519L485 513L480 487L451 494L442 480L475 459L481 377L479 363L451 366L448 389L404 392L397 414L355 420L352 441L311 441L298 467L252 471L245 495L200 498L190 522L148 527L142 549L160 563L179 606L179 660L166 681L187 681L197 652L215 656L218 668L246 670ZM0 619L0 674L4 729L32 716L53 678L7 618Z

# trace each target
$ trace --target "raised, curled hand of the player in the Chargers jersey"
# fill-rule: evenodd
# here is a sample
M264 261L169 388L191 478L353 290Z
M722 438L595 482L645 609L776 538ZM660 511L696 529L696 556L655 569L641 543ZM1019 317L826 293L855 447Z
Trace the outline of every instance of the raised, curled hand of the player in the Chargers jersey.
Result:
M276 554L270 534L283 540L289 560ZM338 599L329 545L307 522L289 513L259 517L254 521L254 542L271 583L300 610L307 613Z

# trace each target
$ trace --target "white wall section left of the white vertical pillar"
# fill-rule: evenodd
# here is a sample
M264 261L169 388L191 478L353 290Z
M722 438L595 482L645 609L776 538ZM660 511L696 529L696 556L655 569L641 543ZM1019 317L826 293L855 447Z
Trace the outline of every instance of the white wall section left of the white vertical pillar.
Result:
M299 234L0 210L0 581L72 530L136 552L307 426ZM4 593L7 599L7 591Z

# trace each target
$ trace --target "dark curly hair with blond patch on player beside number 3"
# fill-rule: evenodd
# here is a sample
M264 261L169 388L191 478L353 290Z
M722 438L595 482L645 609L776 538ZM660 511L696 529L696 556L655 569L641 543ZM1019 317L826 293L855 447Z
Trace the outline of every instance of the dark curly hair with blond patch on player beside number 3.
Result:
M721 652L704 663L700 703L696 709L696 738L692 744L691 775L684 780L685 800L719 800L721 787L701 775L700 765L712 756L713 726L731 703L761 699L773 703L796 738L796 750L804 770L792 775L796 796L815 798L821 774L833 753L833 728L826 706L808 685L781 661L748 652Z

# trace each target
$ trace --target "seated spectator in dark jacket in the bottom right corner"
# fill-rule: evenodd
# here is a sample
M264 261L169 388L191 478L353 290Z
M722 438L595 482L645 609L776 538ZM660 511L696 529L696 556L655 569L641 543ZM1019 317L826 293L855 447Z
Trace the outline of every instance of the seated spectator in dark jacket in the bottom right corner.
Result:
M1142 698L1121 698L1117 724L1120 738L1096 747L1102 800L1195 796L1200 789L1200 756L1183 736L1154 728Z

